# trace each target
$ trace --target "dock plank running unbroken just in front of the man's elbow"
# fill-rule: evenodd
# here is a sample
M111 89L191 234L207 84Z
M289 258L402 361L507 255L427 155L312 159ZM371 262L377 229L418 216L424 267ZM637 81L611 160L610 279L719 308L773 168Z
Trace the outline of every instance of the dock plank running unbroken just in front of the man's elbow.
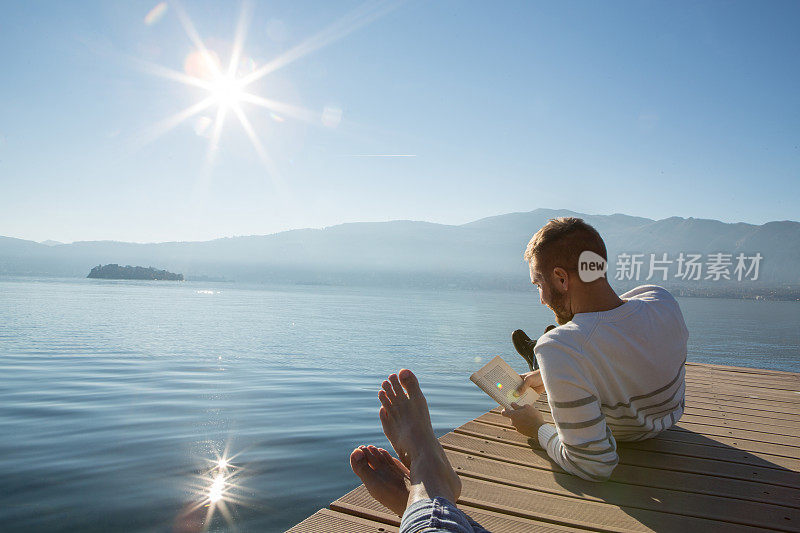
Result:
M588 501L668 512L736 524L766 527L780 520L800 524L800 509L716 494L690 494L626 483L593 483L566 473L545 471L451 451L448 459L459 475ZM800 498L800 490L795 492Z

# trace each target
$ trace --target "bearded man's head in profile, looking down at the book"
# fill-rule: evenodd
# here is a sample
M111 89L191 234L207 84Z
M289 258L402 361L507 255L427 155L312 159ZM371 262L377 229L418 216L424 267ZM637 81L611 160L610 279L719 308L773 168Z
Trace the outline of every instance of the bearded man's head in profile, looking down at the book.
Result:
M530 265L531 283L539 287L543 304L553 310L556 321L566 324L575 314L573 296L586 287L608 281L601 277L591 283L581 281L578 259L591 251L608 260L606 245L592 226L574 217L551 219L536 232L525 250Z

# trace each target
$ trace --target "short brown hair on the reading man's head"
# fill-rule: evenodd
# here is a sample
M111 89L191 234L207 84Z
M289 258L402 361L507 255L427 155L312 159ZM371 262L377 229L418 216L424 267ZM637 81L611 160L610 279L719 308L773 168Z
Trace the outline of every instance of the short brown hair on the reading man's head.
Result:
M580 218L558 217L550 219L536 232L523 258L530 263L536 257L543 271L561 267L577 272L578 258L585 250L608 261L606 244L596 229Z

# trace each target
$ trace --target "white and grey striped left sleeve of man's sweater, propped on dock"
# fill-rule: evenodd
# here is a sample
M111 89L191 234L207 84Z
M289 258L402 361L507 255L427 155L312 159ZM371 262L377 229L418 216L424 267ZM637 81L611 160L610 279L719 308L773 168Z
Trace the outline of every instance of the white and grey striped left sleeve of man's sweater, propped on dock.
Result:
M539 443L567 472L605 481L619 457L594 387L566 354L542 351L539 364L555 425L539 428Z

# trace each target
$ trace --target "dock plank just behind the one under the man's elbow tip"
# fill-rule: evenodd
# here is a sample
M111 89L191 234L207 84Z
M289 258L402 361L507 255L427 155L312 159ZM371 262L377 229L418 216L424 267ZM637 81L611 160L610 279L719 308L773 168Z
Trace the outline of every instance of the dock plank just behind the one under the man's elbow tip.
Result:
M526 449L531 449L531 443L533 442L524 435L517 433L514 429L501 428L479 422L467 422L457 428L455 433L514 444ZM646 442L653 443L654 441ZM707 475L763 481L788 487L800 486L800 473L792 472L791 470L792 466L800 470L800 461L797 460L792 465L786 466L768 462L761 457L736 449L698 447L681 445L681 443L664 443L663 441L659 444L662 446L649 446L646 448L621 446L618 449L620 462L665 470L697 471ZM535 445L538 447L538 444ZM542 451L542 454L544 454L544 451ZM690 467L695 470L687 470Z

